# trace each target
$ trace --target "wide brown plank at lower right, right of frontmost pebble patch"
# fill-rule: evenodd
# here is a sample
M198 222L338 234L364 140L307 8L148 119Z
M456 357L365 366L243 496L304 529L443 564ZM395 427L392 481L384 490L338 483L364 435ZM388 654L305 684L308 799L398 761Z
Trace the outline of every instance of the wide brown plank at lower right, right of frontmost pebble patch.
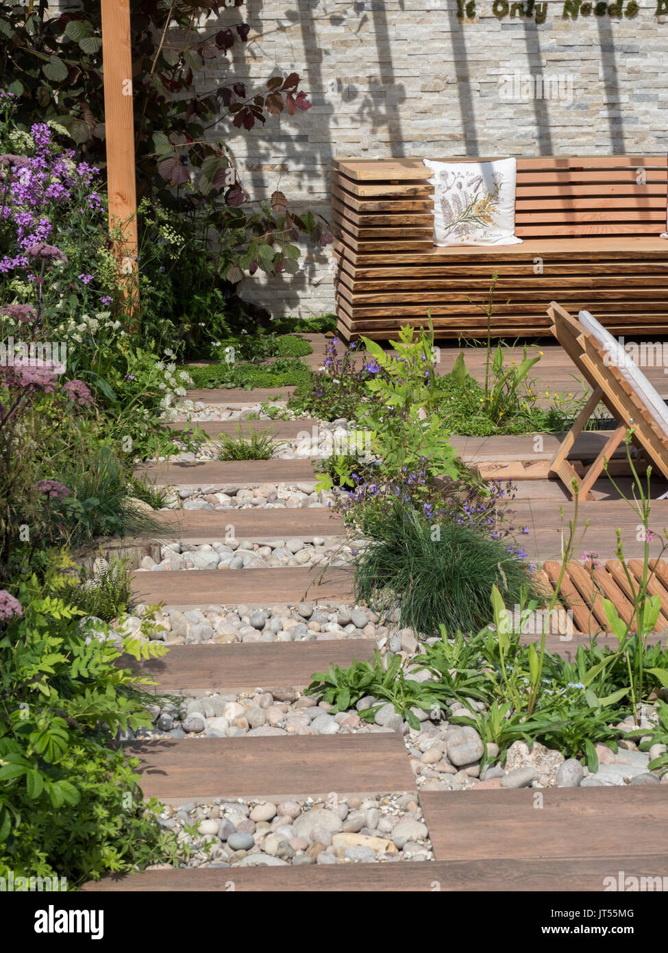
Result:
M536 794L528 788L422 792L436 860L638 857L657 853L668 823L665 784L545 788L542 807ZM619 869L614 862L608 873Z

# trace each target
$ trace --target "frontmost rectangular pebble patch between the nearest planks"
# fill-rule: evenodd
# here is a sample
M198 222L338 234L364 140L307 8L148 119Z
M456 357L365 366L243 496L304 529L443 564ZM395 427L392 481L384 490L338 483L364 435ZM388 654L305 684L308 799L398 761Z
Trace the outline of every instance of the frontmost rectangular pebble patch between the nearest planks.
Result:
M324 801L216 798L166 806L163 827L192 849L188 867L288 866L431 861L429 832L415 793ZM186 827L197 829L189 834Z

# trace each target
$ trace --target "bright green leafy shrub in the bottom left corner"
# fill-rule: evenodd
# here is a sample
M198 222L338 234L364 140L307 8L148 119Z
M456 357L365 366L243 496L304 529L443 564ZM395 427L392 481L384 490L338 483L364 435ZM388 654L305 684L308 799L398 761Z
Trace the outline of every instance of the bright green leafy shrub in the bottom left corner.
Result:
M143 800L138 760L109 745L118 729L151 724L129 697L140 679L115 664L111 642L86 636L66 585L58 567L46 584L23 578L20 611L0 622L0 875L74 886L175 862L178 846Z

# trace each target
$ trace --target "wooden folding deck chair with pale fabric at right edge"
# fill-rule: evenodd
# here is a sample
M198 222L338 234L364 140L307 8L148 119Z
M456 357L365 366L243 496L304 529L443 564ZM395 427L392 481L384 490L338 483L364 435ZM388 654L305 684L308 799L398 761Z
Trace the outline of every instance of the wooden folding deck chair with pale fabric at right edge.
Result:
M552 319L550 331L592 387L592 395L550 463L549 475L558 476L574 499L594 499L592 487L605 460L610 459L629 430L633 430L633 442L668 478L668 408L657 391L591 314L580 312L577 319L556 301L550 304L547 313ZM567 456L599 402L607 407L618 426L585 476L580 478ZM574 478L577 493L573 491Z

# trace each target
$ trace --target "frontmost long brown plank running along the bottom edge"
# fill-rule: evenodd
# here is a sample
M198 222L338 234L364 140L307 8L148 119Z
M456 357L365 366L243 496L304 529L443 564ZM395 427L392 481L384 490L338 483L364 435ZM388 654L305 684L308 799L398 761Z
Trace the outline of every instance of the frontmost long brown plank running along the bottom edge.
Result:
M482 793L482 792L480 792ZM84 893L599 893L606 877L668 877L668 855L624 854L595 858L522 859L488 861L428 861L421 863L340 863L332 866L183 867L145 870L128 877L89 881ZM665 882L665 880L663 881ZM632 883L632 881L627 881Z

